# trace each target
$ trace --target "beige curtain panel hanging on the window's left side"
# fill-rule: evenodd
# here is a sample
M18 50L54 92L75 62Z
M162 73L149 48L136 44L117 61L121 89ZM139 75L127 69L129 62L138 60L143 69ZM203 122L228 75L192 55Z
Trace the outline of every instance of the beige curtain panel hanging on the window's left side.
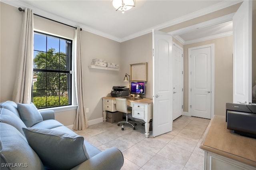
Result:
M24 10L16 81L12 95L12 100L16 103L30 103L32 91L34 16L31 9L25 8Z

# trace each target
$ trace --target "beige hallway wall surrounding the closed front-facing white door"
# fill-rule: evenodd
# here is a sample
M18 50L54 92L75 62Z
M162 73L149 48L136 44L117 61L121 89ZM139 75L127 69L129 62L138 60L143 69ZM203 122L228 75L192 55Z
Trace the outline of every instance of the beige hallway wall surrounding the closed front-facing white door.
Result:
M184 45L184 112L188 112L188 48L214 44L214 115L226 115L233 101L233 36Z

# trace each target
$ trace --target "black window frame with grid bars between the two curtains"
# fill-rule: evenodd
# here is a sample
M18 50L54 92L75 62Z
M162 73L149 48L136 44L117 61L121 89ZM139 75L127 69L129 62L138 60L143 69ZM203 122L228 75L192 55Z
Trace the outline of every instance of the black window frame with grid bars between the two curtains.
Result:
M68 107L72 106L72 103L74 102L73 101L73 83L74 83L73 81L74 81L74 78L72 76L72 73L73 73L73 71L72 71L72 67L73 67L73 56L72 56L72 54L73 54L73 45L74 45L73 40L70 39L70 38L64 38L64 37L58 36L58 35L52 35L50 33L42 32L42 31L39 31L39 30L34 30L34 34L39 34L39 35L46 36L46 42L45 42L46 43L46 51L39 51L39 50L33 49L33 53L34 53L34 51L47 53L47 51L48 51L48 49L47 49L47 37L57 38L59 40L65 40L65 41L70 42L70 54L68 54L68 55L66 54L66 56L68 57L68 62L69 62L68 67L70 67L70 69L68 69L68 67L67 67L68 70L60 70L60 67L59 67L58 70L56 70L56 69L47 69L47 68L46 69L34 68L34 57L33 57L33 75L34 75L34 72L58 73L58 74L66 73L67 75L69 75L69 76L67 76L67 77L69 77L69 80L67 80L67 81L70 81L70 83L69 83L69 85L67 85L67 89L66 89L66 91L68 91L68 104L67 105L47 106L47 93L46 93L46 95L45 95L46 96L46 107L38 107L38 109L48 110L50 108L50 109L58 109L59 110L60 108L68 108ZM60 41L59 41L58 45L60 47ZM58 53L58 52L60 52L60 49L59 49L59 51L56 51L56 53ZM47 61L47 59L46 59L46 61ZM60 61L60 57L59 57L59 61ZM60 83L60 80L59 80L59 83ZM31 87L32 87L31 100L33 102L33 92L36 91L36 90L33 90L33 85ZM47 91L48 89L46 88L46 89L40 89L40 90L46 90ZM60 98L59 98L59 104L60 104Z

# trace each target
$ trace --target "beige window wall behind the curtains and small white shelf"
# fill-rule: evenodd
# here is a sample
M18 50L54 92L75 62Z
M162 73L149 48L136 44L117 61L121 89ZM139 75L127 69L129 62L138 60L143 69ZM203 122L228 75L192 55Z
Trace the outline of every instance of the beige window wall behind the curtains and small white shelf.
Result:
M19 35L22 26L22 12L19 12L18 8L2 2L0 2L0 6L0 102L2 102L12 100L12 91L16 77ZM74 28L38 16L34 16L34 28L61 37L74 39ZM89 108L87 117L91 121L102 118L102 97L111 92L112 86L123 83L123 75L119 77L119 71L89 69L88 65L90 65L94 58L105 59L112 63L120 63L120 43L86 31L81 32L81 41L86 94L84 105L86 108ZM64 125L72 125L75 115L76 110L55 112L56 119Z

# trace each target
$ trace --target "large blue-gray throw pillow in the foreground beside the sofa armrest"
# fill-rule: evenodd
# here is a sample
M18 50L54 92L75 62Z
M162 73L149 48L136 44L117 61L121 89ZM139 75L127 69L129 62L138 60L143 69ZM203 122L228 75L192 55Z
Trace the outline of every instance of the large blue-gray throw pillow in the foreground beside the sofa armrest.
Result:
M23 131L46 168L71 169L88 159L82 136L43 128Z

